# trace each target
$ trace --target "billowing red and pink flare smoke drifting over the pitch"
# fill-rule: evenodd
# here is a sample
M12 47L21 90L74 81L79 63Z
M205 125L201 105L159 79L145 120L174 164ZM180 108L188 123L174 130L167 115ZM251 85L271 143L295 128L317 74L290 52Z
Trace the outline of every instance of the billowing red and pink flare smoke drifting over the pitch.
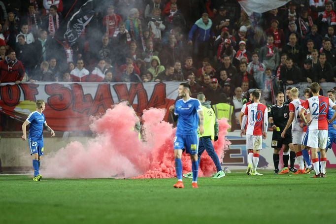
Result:
M55 154L45 156L41 170L54 178L168 178L175 176L173 139L175 129L164 121L165 110L151 108L142 115L144 141L133 130L136 118L126 105L108 109L101 118L93 118L91 130L96 137L83 145L71 142ZM219 120L218 156L223 157L229 142L224 139L228 123ZM191 170L189 155L182 157L183 170ZM215 172L206 152L202 155L200 176Z

